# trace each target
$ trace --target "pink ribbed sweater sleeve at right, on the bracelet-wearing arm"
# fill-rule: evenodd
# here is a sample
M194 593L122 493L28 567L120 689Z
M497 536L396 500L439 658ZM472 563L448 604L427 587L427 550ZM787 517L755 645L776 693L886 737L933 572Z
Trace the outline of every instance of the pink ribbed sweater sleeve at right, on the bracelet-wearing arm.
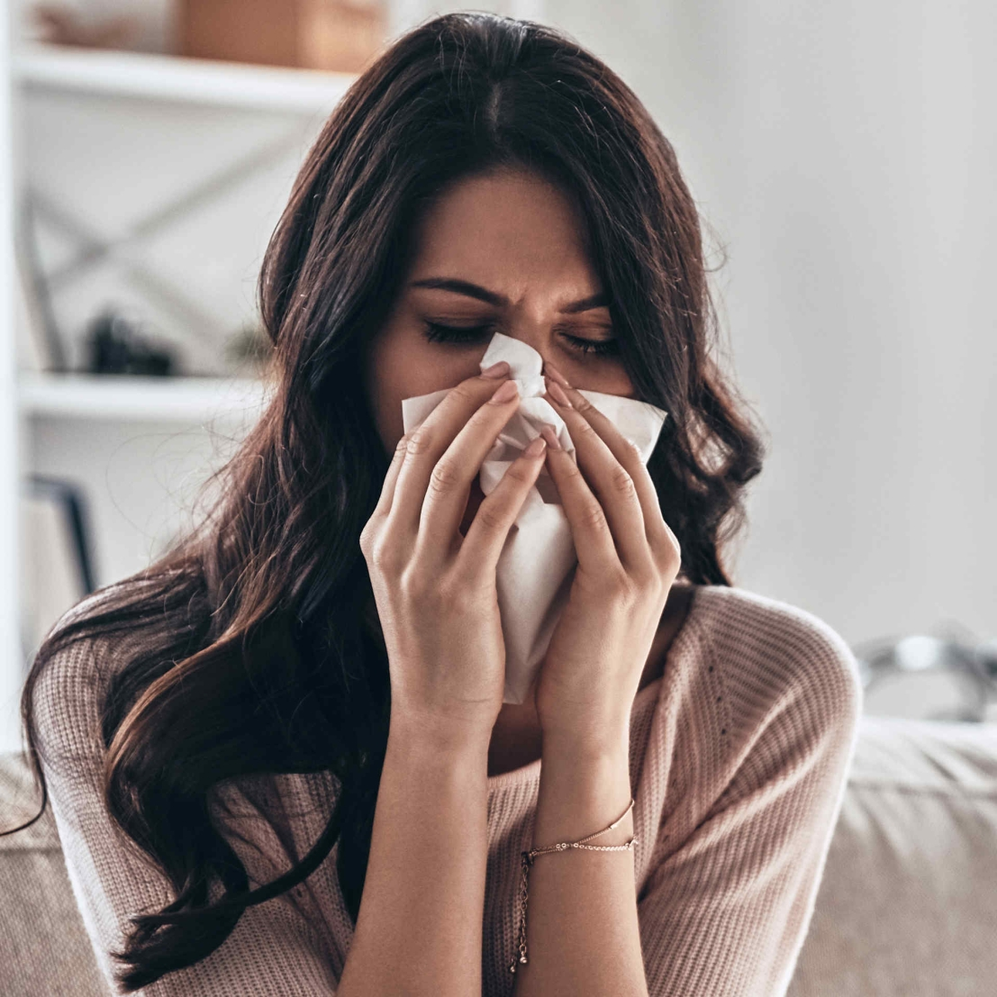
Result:
M687 832L662 823L638 896L651 997L780 997L813 914L861 686L826 624L771 622L710 649L727 708L697 735L702 757L674 764L719 775Z

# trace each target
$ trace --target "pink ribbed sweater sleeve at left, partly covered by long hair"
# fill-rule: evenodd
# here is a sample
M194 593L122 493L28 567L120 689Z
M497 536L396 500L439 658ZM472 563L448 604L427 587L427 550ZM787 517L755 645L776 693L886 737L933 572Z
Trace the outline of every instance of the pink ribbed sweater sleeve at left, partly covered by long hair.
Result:
M108 814L102 796L98 663L91 640L45 663L35 694L42 768L70 882L109 992L131 915L173 898L166 877ZM228 938L200 962L167 973L148 997L318 997L336 980L321 942L293 904L275 897L249 907Z

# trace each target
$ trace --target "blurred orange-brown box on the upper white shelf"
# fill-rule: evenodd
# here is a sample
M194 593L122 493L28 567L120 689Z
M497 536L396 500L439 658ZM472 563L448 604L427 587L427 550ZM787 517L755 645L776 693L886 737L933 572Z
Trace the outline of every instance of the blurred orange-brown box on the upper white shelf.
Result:
M178 0L179 55L358 73L385 37L381 0Z

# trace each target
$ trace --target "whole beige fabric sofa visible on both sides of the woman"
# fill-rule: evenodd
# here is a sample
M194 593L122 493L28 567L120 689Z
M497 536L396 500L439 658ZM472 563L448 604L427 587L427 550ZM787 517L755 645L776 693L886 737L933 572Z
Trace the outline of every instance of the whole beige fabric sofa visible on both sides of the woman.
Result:
M0 756L2 823L30 805ZM0 837L0 993L105 994L43 822ZM997 725L862 719L791 997L997 994Z

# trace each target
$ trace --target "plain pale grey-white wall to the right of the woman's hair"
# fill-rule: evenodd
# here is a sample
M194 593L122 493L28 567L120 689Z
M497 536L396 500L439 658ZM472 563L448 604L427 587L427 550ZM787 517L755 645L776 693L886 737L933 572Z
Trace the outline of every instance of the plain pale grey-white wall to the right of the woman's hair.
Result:
M772 436L739 582L855 642L997 632L997 10L547 0L634 87L726 243Z

